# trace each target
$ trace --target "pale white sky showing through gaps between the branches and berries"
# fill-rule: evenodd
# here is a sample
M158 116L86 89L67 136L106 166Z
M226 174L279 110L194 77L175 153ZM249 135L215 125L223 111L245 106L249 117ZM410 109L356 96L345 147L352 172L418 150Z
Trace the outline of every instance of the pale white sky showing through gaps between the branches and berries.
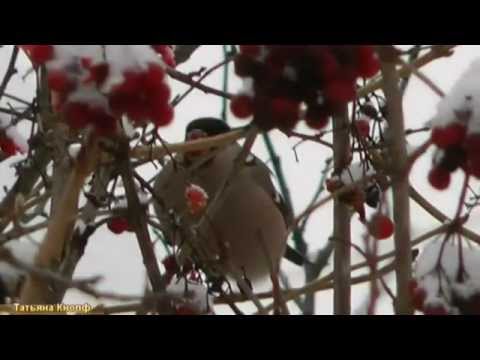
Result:
M10 59L11 46L5 45L0 48L0 79L3 79L6 66ZM480 57L480 46L460 46L456 49L455 55L448 59L441 59L422 69L434 82L445 92L454 85L454 82L460 77L461 73L466 70L471 61ZM204 45L198 50L192 59L179 67L183 72L196 71L199 68L217 64L223 59L223 51L221 45ZM22 76L29 69L27 60L21 57L19 61L19 75L15 76L11 81L7 92L24 99L33 97L35 79L33 75L22 80ZM480 80L480 79L479 79ZM223 70L219 70L205 80L205 84L215 88L221 88L223 81ZM174 95L183 93L188 89L187 86L171 80ZM241 86L241 81L233 75L230 76L230 92L235 92ZM427 86L421 81L413 78L406 92L404 106L407 128L422 127L431 116L434 115L436 105L439 101ZM1 106L6 105L3 99ZM174 124L167 129L161 130L161 135L169 142L177 142L183 139L186 124L194 118L203 116L220 116L221 99L214 95L206 95L201 91L194 90L176 110L176 118ZM231 115L229 123L233 126L239 126L244 123L236 121ZM19 129L28 136L28 124L20 124ZM308 132L306 128L301 126L301 132ZM288 139L278 132L272 132L272 139L275 143L277 151L282 158L283 169L287 177L288 184L294 203L296 212L300 212L308 205L313 196L318 182L321 177L321 171L324 167L325 160L331 156L330 150L319 144L304 144L297 148L300 161L297 163L292 147L298 142L297 139ZM420 134L409 137L412 145L419 145L425 141L426 135ZM326 140L330 140L326 138ZM263 146L263 142L258 140L254 147L254 152L260 158L268 161L268 154ZM20 157L3 162L1 166L0 188L3 186L10 187L14 182L14 170L10 168L12 162L18 161ZM449 191L437 192L428 184L427 174L430 169L431 153L424 155L415 165L411 174L411 183L416 189L429 199L434 205L446 214L453 216L458 204L459 190L461 187L462 176L457 173L453 178ZM150 179L156 170L153 166L145 168L144 175L146 179ZM477 189L478 184L473 183L473 188ZM2 195L3 196L3 195ZM331 206L325 206L320 209L311 218L309 227L306 231L305 238L312 246L312 250L319 249L325 245L332 230L332 209ZM475 231L480 231L479 211L474 210L467 226ZM354 219L356 217L354 216ZM432 219L423 210L412 202L412 235L419 236L439 224ZM362 244L362 235L364 233L363 226L358 221L353 221L352 236L355 243ZM41 239L41 234L36 234L35 239ZM381 243L381 251L389 251L392 249L393 240ZM159 258L163 256L162 247L158 248ZM363 259L352 251L352 261L357 263ZM289 275L293 286L303 285L303 271L289 264L283 266ZM325 270L330 271L331 267ZM142 258L134 235L125 234L117 236L111 234L105 227L97 231L90 239L89 245L82 261L80 262L76 274L77 277L89 277L101 275L104 280L99 284L99 289L115 291L121 294L140 295L145 287L145 271ZM356 273L358 275L358 273ZM393 277L388 277L389 284L394 288ZM368 296L367 286L356 286L352 293L352 309L360 309L364 300ZM378 313L391 314L392 306L388 297L382 294L382 300L378 307ZM317 295L317 313L331 314L332 292L321 292ZM78 291L69 291L65 303L85 303L89 302L97 304L94 299L79 293ZM108 302L107 302L108 303ZM295 307L292 306L295 312ZM247 306L245 309L254 309ZM228 309L219 309L219 313L229 313Z

